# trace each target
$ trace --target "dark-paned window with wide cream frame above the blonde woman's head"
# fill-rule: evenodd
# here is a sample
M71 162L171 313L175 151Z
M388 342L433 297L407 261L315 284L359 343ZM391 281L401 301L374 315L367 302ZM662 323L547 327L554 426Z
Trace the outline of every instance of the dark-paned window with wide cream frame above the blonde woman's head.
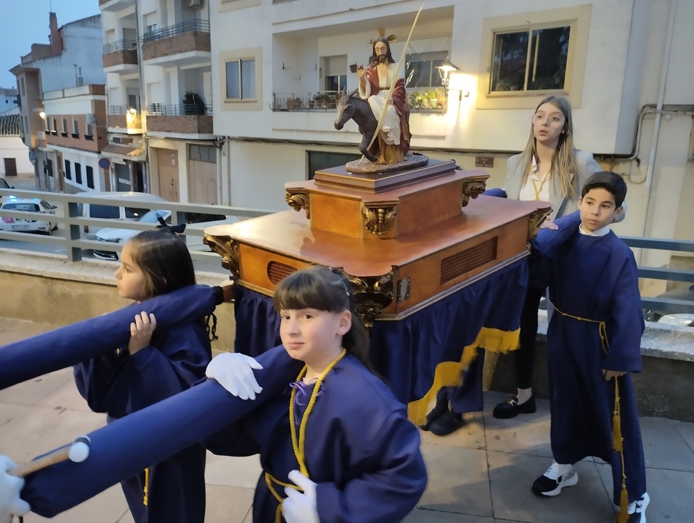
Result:
M589 4L484 19L477 108L534 108L547 94L580 105Z

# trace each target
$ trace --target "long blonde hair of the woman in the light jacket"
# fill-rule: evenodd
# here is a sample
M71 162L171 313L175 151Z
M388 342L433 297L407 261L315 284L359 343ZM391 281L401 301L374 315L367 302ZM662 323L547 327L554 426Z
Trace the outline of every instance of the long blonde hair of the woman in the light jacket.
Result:
M571 116L571 106L570 103L568 103L568 100L565 98L548 96L537 104L535 113L543 103L551 103L561 111L561 114L564 115L564 128L562 128L563 133L559 135L557 148L555 149L555 152L552 153L552 169L550 173L552 176L559 176L562 196L565 198L573 198L575 197L578 184L578 163L576 161L573 145L573 117ZM523 165L523 184L525 184L527 181L527 177L530 176L530 169L532 169L532 158L534 157L535 160L538 161L537 144L535 136L532 132L532 128L533 124L531 120L530 138L528 138L525 149L521 153L521 165ZM572 174L574 175L573 179L571 176Z

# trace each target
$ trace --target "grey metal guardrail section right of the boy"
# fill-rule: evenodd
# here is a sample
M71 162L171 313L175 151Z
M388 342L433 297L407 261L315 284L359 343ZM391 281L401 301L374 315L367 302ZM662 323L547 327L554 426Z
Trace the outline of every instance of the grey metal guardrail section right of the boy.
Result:
M694 242L688 240L667 240L664 238L641 238L638 236L620 236L629 247L635 249L658 249L661 251L694 252ZM654 280L684 281L694 283L694 271L670 269L668 267L638 266L639 278ZM672 299L667 297L641 297L644 309L665 313L694 314L694 301Z

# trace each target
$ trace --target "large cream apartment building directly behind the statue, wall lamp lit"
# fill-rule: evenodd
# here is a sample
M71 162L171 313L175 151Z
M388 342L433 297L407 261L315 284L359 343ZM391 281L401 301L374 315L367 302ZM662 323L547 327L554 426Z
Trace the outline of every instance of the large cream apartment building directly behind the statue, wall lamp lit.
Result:
M559 94L576 146L627 179L618 232L694 239L691 1L210 0L210 20L224 203L285 208L285 181L358 154L357 126L333 126L334 100L357 87L383 33L408 80L414 151L483 168L502 187L537 103ZM446 58L455 69L443 80Z

